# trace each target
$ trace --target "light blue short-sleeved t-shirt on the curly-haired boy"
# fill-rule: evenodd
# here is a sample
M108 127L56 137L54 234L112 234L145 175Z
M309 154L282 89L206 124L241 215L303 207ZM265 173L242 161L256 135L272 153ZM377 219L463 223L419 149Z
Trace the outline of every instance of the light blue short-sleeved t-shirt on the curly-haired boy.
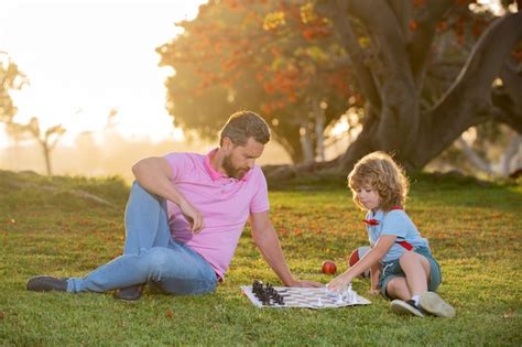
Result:
M403 209L392 209L388 213L383 210L368 212L367 220L376 219L378 225L367 225L368 236L371 247L376 246L381 235L394 235L396 241L406 241L413 247L427 247L427 239L422 238L417 228ZM381 259L381 262L395 260L404 253L405 248L399 243L394 243L388 253Z

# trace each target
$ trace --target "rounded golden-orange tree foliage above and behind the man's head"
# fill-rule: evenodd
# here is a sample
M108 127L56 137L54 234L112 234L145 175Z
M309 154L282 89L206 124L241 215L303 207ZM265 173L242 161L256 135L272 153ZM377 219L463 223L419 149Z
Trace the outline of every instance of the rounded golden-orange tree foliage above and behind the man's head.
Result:
M262 113L294 162L323 155L324 129L347 108L351 79L330 23L308 1L211 1L162 45L176 124L215 138L238 109ZM335 67L335 68L334 68Z

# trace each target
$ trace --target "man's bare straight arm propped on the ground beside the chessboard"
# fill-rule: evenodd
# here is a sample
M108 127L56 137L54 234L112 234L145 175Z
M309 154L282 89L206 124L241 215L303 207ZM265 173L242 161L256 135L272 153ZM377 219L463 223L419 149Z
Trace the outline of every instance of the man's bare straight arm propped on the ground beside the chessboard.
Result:
M269 212L251 214L250 224L252 226L253 241L264 257L264 260L273 269L286 286L323 286L313 281L300 281L292 276L292 273L284 260L283 251L279 242L278 235L269 218Z

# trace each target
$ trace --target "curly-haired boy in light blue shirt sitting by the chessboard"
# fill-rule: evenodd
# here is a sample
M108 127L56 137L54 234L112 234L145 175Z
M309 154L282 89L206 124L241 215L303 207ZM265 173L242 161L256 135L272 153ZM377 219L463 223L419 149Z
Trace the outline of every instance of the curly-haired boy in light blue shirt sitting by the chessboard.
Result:
M392 311L454 317L454 307L435 293L441 267L402 207L409 191L403 170L388 154L373 152L355 165L348 185L356 205L368 210L365 223L371 249L328 289L338 291L370 269L371 291L392 300Z

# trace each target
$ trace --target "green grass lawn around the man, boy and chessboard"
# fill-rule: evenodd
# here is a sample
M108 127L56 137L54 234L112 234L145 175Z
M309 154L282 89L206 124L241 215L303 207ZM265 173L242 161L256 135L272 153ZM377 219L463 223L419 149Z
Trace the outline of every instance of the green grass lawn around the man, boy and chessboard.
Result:
M368 280L354 286L369 306L255 308L239 285L279 281L249 229L214 294L145 291L124 303L110 293L28 292L30 276L83 275L121 253L128 186L118 178L0 171L0 345L522 345L521 186L431 175L412 181L407 210L443 267L439 293L455 305L453 319L396 316L383 299L367 295ZM271 206L287 262L303 279L327 283L323 260L344 269L346 256L367 243L363 214L340 181L271 192Z

